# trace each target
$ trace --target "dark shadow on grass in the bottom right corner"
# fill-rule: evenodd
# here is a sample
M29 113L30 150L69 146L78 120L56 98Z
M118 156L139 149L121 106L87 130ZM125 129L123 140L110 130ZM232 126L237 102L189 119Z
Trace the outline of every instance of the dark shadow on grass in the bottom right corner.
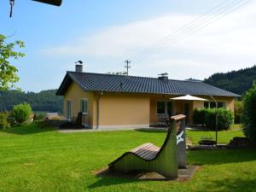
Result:
M198 192L205 191L221 191L221 192L230 192L230 191L245 191L253 192L256 189L256 178L239 178L239 179L222 179L214 181L207 181L204 189L197 190Z

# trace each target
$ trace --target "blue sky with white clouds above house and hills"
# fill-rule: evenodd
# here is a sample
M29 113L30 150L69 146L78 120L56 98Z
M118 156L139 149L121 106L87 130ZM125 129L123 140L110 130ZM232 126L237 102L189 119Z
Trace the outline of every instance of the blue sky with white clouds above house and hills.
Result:
M226 0L63 0L61 7L17 1L0 2L1 33L22 40L26 57L15 61L22 90L58 88L74 62L84 71L124 71L124 61ZM131 75L204 79L255 63L255 2L155 55L131 61ZM242 16L241 16L242 15ZM216 15L215 15L216 16Z

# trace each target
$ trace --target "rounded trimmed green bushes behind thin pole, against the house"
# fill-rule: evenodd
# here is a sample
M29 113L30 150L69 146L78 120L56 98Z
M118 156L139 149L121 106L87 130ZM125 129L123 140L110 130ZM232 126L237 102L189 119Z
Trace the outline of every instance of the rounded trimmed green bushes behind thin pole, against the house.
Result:
M218 108L218 130L228 130L233 124L233 113L225 108ZM194 123L197 125L207 125L208 128L216 128L216 109L201 108L194 111Z

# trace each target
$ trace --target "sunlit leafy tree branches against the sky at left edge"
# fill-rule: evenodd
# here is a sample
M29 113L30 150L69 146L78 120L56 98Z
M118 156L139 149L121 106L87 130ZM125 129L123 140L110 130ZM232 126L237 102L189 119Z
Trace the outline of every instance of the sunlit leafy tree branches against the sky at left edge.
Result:
M17 76L18 69L10 63L12 59L18 60L23 57L21 52L15 52L15 47L24 48L25 45L21 41L15 43L7 43L8 37L0 34L0 89L7 90L14 87L14 84L19 81Z

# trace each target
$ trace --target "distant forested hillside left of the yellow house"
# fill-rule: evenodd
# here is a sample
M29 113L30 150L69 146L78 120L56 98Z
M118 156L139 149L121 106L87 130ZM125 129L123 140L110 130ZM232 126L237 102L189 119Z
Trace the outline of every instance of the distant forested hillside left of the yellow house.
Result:
M10 111L14 105L27 102L33 111L61 112L62 96L55 96L56 90L42 90L38 93L19 90L0 90L0 111Z

